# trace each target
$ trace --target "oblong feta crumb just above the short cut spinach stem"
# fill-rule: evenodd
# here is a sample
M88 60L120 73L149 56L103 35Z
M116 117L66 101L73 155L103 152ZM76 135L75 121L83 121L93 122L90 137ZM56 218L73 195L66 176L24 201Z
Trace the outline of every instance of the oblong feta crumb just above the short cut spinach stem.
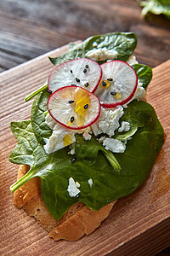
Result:
M125 143L110 137L105 138L103 145L106 150L111 150L113 153L123 153L126 149Z

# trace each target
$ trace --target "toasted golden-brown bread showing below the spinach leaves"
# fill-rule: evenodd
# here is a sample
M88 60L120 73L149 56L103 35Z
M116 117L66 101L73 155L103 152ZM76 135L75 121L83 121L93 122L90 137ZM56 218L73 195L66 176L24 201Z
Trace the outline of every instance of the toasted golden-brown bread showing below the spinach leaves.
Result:
M21 165L17 180L29 171L30 166ZM89 235L110 214L116 201L102 207L99 211L89 209L82 202L72 205L61 219L55 220L48 212L41 195L41 180L33 177L14 192L14 206L23 208L26 213L37 219L48 235L55 241L64 239L76 241L84 235Z

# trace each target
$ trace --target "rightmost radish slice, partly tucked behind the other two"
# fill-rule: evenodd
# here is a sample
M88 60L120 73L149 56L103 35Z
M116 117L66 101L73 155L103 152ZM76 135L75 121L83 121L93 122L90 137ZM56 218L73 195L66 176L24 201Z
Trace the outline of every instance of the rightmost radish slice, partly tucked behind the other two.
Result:
M124 61L109 61L101 65L102 78L95 95L105 108L116 108L129 102L137 88L138 77L133 67Z

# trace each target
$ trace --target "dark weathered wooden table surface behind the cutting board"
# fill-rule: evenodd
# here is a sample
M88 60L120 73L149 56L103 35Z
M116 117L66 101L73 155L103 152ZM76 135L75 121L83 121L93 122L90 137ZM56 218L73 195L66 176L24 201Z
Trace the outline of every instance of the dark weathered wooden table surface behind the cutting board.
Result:
M138 61L156 67L170 57L170 20L146 18L135 0L0 0L0 72L106 32L135 32Z

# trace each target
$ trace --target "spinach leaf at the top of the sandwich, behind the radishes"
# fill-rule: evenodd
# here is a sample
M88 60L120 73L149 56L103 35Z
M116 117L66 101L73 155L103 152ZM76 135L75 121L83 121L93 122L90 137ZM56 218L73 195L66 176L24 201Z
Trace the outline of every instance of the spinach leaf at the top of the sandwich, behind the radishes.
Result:
M136 48L137 37L133 32L113 32L98 35L86 39L81 44L70 44L70 49L65 54L49 59L54 65L59 65L65 61L84 58L88 50L94 49L94 44L96 44L96 48L101 45L102 48L116 50L118 53L117 59L127 61Z

